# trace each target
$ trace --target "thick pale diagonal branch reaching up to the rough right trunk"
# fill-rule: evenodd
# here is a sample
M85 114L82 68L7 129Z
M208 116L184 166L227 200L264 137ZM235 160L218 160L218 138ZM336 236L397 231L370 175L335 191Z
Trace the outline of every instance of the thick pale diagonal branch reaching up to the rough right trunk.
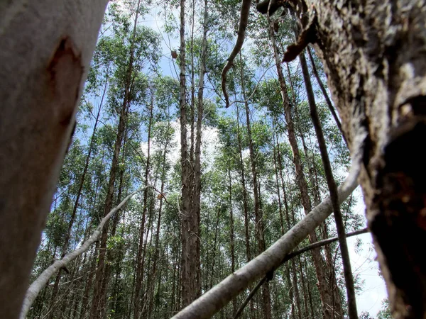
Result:
M358 169L353 169L339 187L339 203L342 203L358 185L356 182ZM222 282L204 293L200 298L180 311L173 319L203 319L211 318L229 301L239 295L256 279L280 266L284 257L289 254L307 235L315 230L332 213L332 203L329 197L310 211L293 228L277 240L258 257L239 270L226 277Z

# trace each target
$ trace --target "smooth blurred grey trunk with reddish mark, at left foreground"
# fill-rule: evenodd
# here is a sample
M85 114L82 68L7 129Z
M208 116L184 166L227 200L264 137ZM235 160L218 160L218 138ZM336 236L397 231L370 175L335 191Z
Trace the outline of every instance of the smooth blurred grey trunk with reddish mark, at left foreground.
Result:
M2 318L21 309L106 5L0 4Z

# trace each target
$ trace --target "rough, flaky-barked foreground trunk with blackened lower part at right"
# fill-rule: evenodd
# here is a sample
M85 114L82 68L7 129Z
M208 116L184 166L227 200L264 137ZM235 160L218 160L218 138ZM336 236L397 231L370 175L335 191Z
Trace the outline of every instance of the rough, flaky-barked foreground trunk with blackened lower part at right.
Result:
M361 169L393 317L426 318L425 1L301 4L314 9L302 16L315 14L310 40Z

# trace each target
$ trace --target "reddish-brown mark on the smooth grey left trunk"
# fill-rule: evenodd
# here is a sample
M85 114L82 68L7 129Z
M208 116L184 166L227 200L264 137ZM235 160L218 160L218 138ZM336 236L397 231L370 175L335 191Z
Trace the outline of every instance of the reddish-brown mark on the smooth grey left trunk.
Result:
M69 37L60 40L47 71L50 92L58 101L55 111L58 111L59 123L68 126L72 122L74 109L80 97L84 73L81 53Z

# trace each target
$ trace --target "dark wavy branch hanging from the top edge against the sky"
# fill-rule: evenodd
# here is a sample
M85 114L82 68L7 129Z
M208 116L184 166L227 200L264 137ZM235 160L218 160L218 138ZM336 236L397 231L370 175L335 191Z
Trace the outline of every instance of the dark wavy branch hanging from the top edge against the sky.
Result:
M238 37L236 38L236 43L234 49L226 60L226 65L222 69L222 91L224 91L226 108L229 108L229 96L228 91L226 91L226 73L228 73L231 67L234 67L234 59L236 55L241 51L243 47L244 38L246 38L246 28L249 21L249 12L250 12L251 0L243 0L241 4L241 13L240 13L240 23L238 28Z

